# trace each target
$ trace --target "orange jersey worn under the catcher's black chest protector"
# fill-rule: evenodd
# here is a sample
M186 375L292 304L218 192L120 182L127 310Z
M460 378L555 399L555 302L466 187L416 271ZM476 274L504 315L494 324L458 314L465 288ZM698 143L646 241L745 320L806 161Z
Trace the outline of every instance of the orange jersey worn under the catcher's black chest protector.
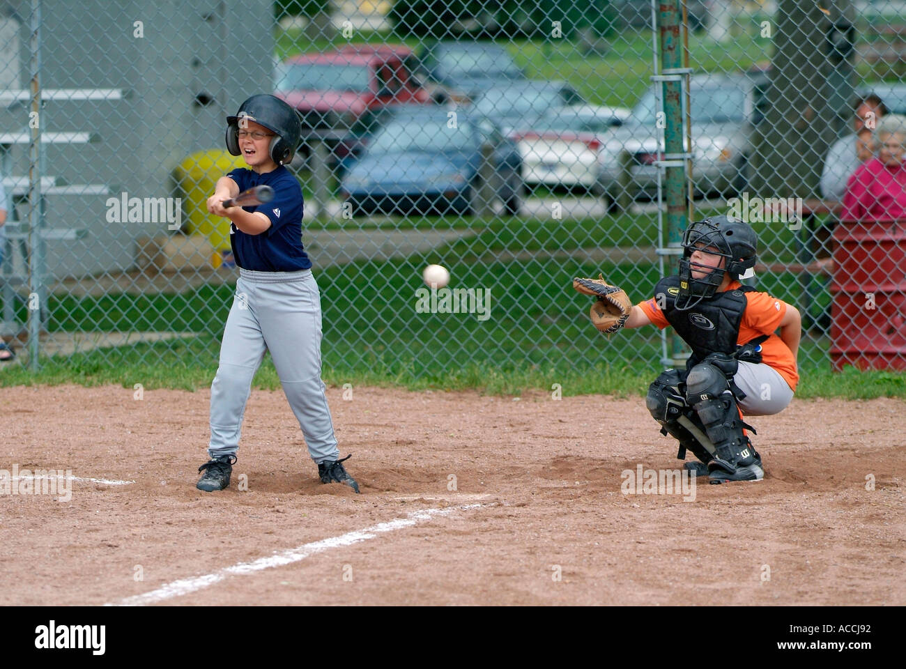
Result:
M742 286L738 281L733 281L727 290L734 290ZM742 321L739 323L739 336L737 344L742 345L752 341L760 335L770 335L761 344L761 361L776 369L784 377L786 383L795 391L799 383L799 372L796 370L795 358L789 346L783 343L774 331L786 315L786 302L767 295L767 293L743 293L746 296L746 310L743 312ZM654 297L640 302L638 306L651 323L661 330L670 325L664 313L660 310Z

